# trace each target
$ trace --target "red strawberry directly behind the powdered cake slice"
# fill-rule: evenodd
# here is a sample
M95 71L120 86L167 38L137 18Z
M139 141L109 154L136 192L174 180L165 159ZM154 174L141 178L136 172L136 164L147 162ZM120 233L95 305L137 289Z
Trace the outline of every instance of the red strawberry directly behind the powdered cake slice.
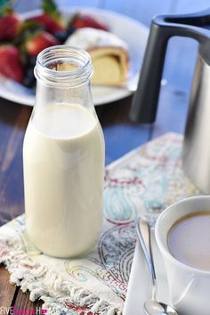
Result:
M90 15L85 15L85 14L79 14L77 13L71 23L76 29L81 29L81 28L93 28L93 29L103 29L103 30L109 30L108 27L101 23L101 21L95 20L92 16Z

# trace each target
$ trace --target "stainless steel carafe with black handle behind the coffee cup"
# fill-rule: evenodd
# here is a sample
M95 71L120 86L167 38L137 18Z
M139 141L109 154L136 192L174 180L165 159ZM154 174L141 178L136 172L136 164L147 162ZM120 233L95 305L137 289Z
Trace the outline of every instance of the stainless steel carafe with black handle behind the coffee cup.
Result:
M170 37L198 40L198 58L190 94L182 165L204 193L210 194L210 8L188 15L158 15L151 22L139 85L130 117L141 123L156 120L166 47ZM177 65L178 66L178 65Z

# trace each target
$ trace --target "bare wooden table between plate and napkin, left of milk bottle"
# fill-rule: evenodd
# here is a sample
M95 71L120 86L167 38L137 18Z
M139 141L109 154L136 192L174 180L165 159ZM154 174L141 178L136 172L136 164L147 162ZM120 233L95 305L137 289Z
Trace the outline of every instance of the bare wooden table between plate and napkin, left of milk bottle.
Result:
M0 99L0 225L24 210L22 142L31 108Z

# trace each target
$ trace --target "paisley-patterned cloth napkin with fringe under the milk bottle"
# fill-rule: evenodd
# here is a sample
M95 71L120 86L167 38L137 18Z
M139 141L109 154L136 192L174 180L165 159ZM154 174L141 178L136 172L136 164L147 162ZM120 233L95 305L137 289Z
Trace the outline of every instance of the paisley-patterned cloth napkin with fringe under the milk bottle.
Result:
M182 136L170 133L107 167L101 237L82 259L56 259L37 251L24 215L0 228L0 262L12 284L28 290L31 301L41 298L47 314L122 314L136 216L156 220L169 204L199 193L183 174L181 150Z

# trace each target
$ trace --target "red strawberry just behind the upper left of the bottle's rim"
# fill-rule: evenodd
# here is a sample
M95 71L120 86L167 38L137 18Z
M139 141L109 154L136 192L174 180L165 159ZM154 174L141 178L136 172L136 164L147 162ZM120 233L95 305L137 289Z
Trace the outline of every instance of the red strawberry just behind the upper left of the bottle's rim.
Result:
M47 33L45 31L38 31L36 34L32 37L28 37L25 48L27 53L30 56L36 56L39 54L44 48L58 45L58 40L53 37L50 33Z

